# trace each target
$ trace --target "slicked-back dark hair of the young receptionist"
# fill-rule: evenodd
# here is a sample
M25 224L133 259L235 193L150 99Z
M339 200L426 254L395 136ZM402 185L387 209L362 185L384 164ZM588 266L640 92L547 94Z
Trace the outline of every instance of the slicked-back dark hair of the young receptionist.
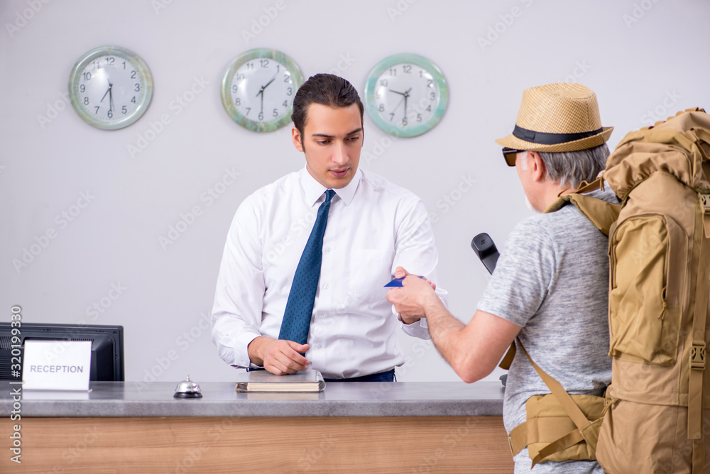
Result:
M291 120L301 133L301 143L303 143L303 129L306 126L306 114L310 104L322 104L337 109L357 104L360 109L360 121L363 120L364 107L352 84L332 74L311 76L298 88L293 98Z

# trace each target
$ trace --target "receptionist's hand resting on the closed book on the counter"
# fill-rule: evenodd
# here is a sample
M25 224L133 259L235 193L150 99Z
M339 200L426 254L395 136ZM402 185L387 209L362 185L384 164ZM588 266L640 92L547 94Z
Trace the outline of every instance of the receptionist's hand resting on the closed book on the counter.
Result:
M310 346L294 341L260 336L249 343L249 358L274 375L285 375L305 370L310 361L303 357Z

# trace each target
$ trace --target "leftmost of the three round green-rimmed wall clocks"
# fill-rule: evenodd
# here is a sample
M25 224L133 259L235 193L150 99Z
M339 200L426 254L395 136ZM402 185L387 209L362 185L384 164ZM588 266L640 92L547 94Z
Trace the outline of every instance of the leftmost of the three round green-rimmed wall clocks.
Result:
M89 125L117 130L146 112L153 97L153 77L133 51L101 46L82 55L72 68L69 97Z

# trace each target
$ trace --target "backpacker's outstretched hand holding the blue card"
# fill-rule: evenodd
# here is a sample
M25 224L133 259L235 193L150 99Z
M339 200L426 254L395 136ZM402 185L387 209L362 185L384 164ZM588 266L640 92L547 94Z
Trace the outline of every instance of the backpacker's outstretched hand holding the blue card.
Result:
M402 316L405 324L412 324L427 316L427 307L436 307L442 302L434 292L436 285L426 278L417 278L407 270L398 267L395 277L406 277L401 288L387 292L387 300L395 305L395 311Z

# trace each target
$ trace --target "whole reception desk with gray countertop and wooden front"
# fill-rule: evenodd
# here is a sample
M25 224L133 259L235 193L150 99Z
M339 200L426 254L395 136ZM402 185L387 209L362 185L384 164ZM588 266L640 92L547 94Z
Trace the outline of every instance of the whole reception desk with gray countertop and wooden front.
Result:
M92 382L68 398L25 391L18 407L19 385L0 381L0 472L513 472L499 382L328 382L317 394L197 382L200 399L173 398L176 382Z

